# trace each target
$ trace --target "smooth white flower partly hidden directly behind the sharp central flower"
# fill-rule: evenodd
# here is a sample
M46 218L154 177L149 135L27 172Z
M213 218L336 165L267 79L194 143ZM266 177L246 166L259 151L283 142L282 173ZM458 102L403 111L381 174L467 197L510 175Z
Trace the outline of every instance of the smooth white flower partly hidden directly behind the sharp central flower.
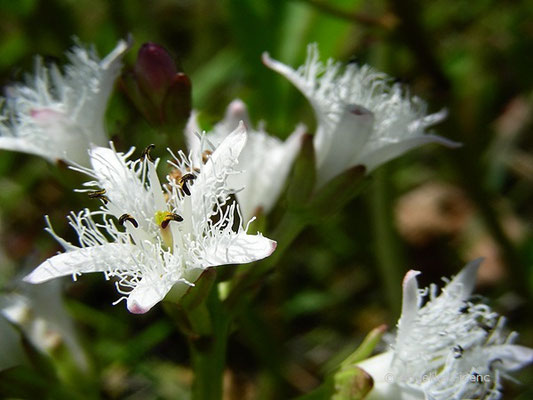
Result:
M216 147L237 127L239 121L244 121L249 129L248 141L239 156L242 173L230 176L228 184L237 190L243 219L249 221L258 210L268 213L276 204L306 128L299 125L283 142L265 132L262 126L252 129L246 105L241 100L234 100L228 106L224 119L206 134L207 140ZM201 146L199 132L197 114L193 112L185 129L187 145L193 152Z

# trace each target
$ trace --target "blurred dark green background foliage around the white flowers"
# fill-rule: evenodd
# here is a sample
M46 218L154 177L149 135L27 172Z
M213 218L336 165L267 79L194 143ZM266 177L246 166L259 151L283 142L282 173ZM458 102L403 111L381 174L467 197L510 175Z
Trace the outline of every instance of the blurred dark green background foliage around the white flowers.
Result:
M237 321L227 399L284 399L316 387L370 329L394 327L410 268L423 271L427 284L485 257L478 292L507 316L521 344L533 346L533 2L0 0L0 83L22 80L36 54L63 63L73 37L103 56L130 34L125 70L143 42L165 46L190 76L194 108L207 125L239 97L271 134L287 137L300 121L312 132L310 106L260 56L269 51L298 66L307 44L317 42L323 60L368 63L424 98L430 111L446 108L435 132L464 144L419 148L389 163L345 210L303 232ZM168 141L118 89L107 128L119 150ZM181 132L166 134L182 140ZM76 241L65 216L94 206L72 192L82 182L37 157L0 152L4 293L59 250L43 231L43 215ZM160 307L143 316L113 307L118 296L101 278L63 282L89 372L59 348L53 365L45 358L23 373L0 373L0 393L187 398L184 339ZM504 398L533 396L531 368L519 379L525 385L506 385Z

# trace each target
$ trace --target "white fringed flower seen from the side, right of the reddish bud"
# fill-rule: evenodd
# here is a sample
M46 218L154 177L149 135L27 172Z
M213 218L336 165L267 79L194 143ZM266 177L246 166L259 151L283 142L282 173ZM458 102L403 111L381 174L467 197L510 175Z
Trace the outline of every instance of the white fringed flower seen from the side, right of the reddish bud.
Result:
M425 143L457 143L425 130L446 112L426 115L426 104L409 97L386 74L367 65L319 60L316 44L297 70L263 54L263 63L295 85L313 106L317 118L314 137L318 184L344 170L364 165L368 171Z

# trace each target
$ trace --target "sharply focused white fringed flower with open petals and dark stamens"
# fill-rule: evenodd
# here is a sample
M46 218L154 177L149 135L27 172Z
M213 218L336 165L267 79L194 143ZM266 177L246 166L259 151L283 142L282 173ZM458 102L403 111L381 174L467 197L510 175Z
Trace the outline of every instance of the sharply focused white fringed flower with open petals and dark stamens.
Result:
M89 192L105 203L98 211L84 210L69 217L80 247L48 231L66 249L42 263L25 280L40 283L59 276L104 272L117 277L117 290L127 298L128 310L144 313L176 285L187 285L208 267L239 264L269 256L276 242L249 235L237 219L228 175L236 173L237 157L246 142L243 124L232 132L205 163L182 152L171 162L165 193L156 163L128 160L133 152L117 153L97 147L90 151L92 168L78 168L105 193ZM95 221L95 217L99 222ZM118 223L117 223L118 221ZM123 228L120 227L123 225Z

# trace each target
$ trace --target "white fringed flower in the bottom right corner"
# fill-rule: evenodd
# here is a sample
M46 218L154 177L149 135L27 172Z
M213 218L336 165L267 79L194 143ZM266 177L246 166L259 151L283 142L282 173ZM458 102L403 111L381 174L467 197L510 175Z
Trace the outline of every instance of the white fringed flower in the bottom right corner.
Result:
M533 362L533 349L512 344L516 332L504 333L504 318L473 301L480 263L440 294L435 284L418 288L418 271L407 273L391 350L358 364L374 379L367 399L499 399L501 378Z

